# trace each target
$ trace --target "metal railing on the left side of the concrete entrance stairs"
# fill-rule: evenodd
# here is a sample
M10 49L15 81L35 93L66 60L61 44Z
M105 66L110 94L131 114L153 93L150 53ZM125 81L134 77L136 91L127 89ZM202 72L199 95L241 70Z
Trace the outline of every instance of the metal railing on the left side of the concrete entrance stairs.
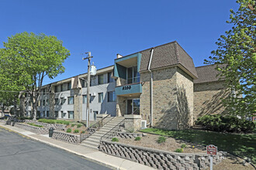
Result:
M109 117L110 114L108 114L106 117ZM89 128L87 128L85 130L85 133L81 133L80 134L80 143L81 141L84 141L86 138L88 138L89 136L91 136L92 134L95 133L95 131L98 131L99 128L102 128L106 123L108 123L109 121L111 121L112 119L110 119L109 121L106 121L105 123L103 122L106 117L103 117L100 121L97 121L95 124L92 124L92 126L90 126Z

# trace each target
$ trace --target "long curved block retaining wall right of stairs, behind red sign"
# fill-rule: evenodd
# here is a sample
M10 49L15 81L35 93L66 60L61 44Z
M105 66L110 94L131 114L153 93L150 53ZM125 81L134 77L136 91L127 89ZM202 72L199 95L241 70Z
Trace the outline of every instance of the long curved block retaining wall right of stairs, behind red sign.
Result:
M175 153L112 141L101 141L99 151L157 169L194 170L209 167L209 155L206 154ZM213 156L213 164L220 163L224 158L225 154L219 152Z

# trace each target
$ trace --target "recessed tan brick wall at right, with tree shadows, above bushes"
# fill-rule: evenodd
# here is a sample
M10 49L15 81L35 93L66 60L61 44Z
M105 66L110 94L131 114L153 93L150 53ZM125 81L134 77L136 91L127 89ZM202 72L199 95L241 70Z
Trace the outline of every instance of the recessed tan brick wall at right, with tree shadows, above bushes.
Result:
M207 114L224 114L222 98L230 95L223 87L224 81L194 84L194 121Z

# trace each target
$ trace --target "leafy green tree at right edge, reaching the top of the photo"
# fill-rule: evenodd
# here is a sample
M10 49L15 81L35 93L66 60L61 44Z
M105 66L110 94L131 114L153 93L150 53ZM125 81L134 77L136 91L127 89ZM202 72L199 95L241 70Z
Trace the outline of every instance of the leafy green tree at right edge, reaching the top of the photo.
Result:
M255 110L255 2L237 0L237 12L230 10L232 29L220 36L218 48L205 63L216 64L220 76L225 77L226 86L232 94L223 100L230 114L251 116Z

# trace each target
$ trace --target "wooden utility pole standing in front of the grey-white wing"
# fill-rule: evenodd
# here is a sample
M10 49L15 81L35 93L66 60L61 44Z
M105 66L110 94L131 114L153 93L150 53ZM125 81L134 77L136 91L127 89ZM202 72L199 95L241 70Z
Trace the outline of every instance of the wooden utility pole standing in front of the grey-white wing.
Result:
M86 104L86 126L87 128L89 128L89 114L90 114L90 107L89 107L89 104L90 104L90 81L91 81L91 59L93 56L91 56L91 52L88 52L88 53L85 53L85 54L88 54L87 57L85 58L82 58L83 60L84 59L88 59L88 71L87 71L87 104Z

